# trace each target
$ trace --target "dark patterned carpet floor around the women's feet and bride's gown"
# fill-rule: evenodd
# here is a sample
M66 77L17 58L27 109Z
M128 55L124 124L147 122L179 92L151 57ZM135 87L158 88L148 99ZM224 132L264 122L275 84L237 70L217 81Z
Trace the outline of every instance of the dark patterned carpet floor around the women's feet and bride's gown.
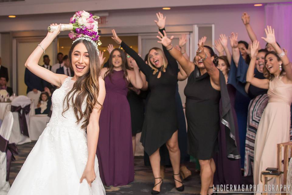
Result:
M17 176L20 168L22 167L26 157L30 153L31 149L33 148L36 142L31 142L28 144L19 145L19 155L16 155L16 161L12 162L11 171L10 171L10 178L9 183L12 184L15 177ZM117 186L117 187L105 187L106 194L108 195L127 195L127 194L151 194L151 189L153 187L153 175L151 171L151 167L144 166L143 157L135 157L134 159L135 164L135 180L134 182L130 183L127 186ZM185 180L183 183L185 185L184 192L178 192L175 189L174 181L172 179L172 168L165 169L165 178L163 180L163 184L161 187L162 195L169 194L169 195L189 195L189 194L196 194L200 193L200 175L199 173L195 172L195 165L193 163L189 163L186 165L193 175ZM246 179L245 179L246 180ZM230 194L230 193L229 193ZM239 195L241 193L237 193ZM246 195L246 193L245 193Z

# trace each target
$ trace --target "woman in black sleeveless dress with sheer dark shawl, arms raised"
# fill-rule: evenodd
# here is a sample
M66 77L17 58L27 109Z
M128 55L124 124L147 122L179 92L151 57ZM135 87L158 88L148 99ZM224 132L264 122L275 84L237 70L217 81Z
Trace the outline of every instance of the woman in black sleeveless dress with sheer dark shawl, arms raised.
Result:
M227 154L229 158L238 157L234 140L234 121L231 113L230 100L224 75L214 65L214 51L203 42L199 41L199 48L193 62L185 59L172 44L172 38L159 32L158 41L162 43L170 54L185 70L188 83L185 88L186 118L188 122L188 150L189 154L199 159L201 168L200 194L208 194L209 187L213 188L215 163L214 151L218 148L217 135L220 129L219 101L222 98L222 120L225 124ZM230 135L230 137L229 137ZM210 189L211 190L211 189Z

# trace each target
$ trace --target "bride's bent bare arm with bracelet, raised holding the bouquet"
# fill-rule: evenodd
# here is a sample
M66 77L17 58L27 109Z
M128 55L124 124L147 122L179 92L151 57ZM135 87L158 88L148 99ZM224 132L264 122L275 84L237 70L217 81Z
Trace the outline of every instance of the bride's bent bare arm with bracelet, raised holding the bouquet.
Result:
M57 24L51 24L51 26L55 26ZM46 80L47 82L57 86L61 87L62 82L65 78L68 76L62 75L62 74L56 74L52 71L41 67L38 65L38 62L40 60L40 57L43 54L43 49L46 50L49 45L53 42L53 40L57 37L57 35L60 33L61 25L59 25L58 29L54 32L48 32L47 36L43 39L42 42L40 42L40 46L37 46L36 49L30 54L28 59L26 60L24 66L30 70L33 74L36 76L42 78L43 80Z

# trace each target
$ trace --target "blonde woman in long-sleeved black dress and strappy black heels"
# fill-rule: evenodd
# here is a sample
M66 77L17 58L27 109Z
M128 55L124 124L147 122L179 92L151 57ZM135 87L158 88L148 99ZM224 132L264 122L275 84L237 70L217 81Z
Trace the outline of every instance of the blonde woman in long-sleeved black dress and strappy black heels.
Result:
M163 22L163 21L160 21ZM165 23L165 19L164 19ZM160 193L162 179L160 176L159 147L166 143L173 168L176 189L183 191L184 186L179 177L180 151L178 146L178 125L176 118L176 84L178 64L165 47L152 48L148 53L149 65L113 32L113 40L137 62L145 74L151 90L144 116L141 142L150 157L151 168L155 177L155 186L151 193Z

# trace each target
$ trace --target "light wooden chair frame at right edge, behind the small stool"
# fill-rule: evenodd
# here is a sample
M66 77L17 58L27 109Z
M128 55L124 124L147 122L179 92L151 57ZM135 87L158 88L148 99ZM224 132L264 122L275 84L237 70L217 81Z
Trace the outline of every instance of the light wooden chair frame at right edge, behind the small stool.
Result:
M282 169L282 147L284 148L284 165ZM279 171L284 170L284 181L283 185L286 185L287 183L287 171L288 171L288 165L289 165L289 158L291 158L291 149L292 149L292 141L277 144L277 155L278 155L278 168Z

